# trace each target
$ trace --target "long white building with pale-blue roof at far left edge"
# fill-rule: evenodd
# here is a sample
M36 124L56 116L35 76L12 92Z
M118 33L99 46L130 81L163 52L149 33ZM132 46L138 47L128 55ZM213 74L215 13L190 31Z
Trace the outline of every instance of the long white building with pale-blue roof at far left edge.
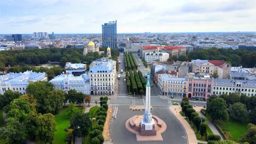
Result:
M29 82L47 81L46 73L26 71L23 73L7 73L0 76L0 94L7 90L20 92L25 95Z

